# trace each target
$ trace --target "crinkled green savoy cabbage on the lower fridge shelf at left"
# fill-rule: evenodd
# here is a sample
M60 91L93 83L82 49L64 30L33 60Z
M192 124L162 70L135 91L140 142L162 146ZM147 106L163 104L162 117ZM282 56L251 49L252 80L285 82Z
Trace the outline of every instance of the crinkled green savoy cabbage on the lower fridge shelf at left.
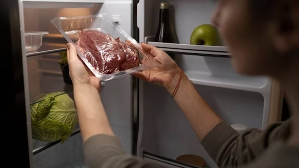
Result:
M31 108L32 138L65 142L77 124L74 101L64 92L43 94Z

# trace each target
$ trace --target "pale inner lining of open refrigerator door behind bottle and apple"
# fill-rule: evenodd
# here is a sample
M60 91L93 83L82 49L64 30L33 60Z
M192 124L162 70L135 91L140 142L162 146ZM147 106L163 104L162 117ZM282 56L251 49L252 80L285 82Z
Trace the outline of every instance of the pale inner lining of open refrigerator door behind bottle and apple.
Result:
M166 2L172 5L170 13L180 44L190 43L190 35L197 26L211 23L217 3L211 0ZM150 42L158 28L159 3L161 0L140 0L137 5L140 42L176 51L175 59L180 68L211 108L228 124L239 123L258 129L267 126L271 79L237 74L232 68L231 58L213 57L213 48L210 47L195 46L199 48L198 53L184 50L184 54L180 54L183 51L178 50L180 45ZM202 50L211 50L212 54L207 56ZM219 50L227 51L223 47ZM138 156L167 167L184 167L175 159L180 155L194 154L205 159L206 167L216 168L166 89L144 82L140 82L139 87Z

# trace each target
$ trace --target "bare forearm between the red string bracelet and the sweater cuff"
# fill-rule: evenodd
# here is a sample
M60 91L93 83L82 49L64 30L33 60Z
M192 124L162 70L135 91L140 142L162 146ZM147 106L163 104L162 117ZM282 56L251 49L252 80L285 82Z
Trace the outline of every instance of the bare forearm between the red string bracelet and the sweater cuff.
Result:
M177 79L178 81L178 79ZM173 90L169 90L170 94ZM183 73L174 100L189 120L200 140L221 122L205 100L199 95L188 77Z

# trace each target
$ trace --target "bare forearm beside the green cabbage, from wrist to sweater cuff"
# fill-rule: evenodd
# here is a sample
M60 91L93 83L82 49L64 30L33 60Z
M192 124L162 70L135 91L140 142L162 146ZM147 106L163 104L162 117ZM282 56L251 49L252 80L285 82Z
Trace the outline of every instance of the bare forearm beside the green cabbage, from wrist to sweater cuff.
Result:
M112 135L99 91L90 85L74 85L74 99L83 142L94 135Z

